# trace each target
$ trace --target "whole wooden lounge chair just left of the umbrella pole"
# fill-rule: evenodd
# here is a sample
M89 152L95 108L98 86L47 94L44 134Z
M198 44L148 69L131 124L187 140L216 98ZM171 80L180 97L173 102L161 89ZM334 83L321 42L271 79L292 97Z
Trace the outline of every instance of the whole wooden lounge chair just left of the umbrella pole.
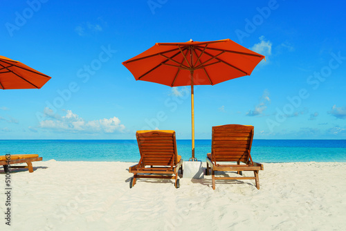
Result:
M176 151L175 131L137 131L136 138L140 152L138 165L129 167L134 174L129 187L136 184L137 178L175 179L179 188L178 171L183 171L183 159Z

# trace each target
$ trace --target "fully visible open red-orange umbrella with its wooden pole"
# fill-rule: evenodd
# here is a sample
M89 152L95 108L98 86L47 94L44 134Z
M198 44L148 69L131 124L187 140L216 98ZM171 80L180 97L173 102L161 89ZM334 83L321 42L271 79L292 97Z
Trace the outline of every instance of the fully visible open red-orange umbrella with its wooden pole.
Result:
M192 159L194 158L194 85L215 85L251 75L264 55L230 39L157 43L122 62L136 80L191 86Z

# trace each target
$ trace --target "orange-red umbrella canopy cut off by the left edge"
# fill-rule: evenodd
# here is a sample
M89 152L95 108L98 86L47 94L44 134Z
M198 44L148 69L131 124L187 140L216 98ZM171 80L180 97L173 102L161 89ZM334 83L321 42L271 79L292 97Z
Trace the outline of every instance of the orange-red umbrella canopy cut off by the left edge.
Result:
M0 55L0 89L40 89L51 77Z

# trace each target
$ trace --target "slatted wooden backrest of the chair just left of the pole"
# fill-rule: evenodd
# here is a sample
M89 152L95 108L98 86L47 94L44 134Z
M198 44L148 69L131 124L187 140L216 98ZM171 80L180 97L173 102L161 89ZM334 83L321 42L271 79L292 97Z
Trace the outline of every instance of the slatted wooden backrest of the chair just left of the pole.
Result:
M136 138L143 165L176 165L175 131L137 131Z

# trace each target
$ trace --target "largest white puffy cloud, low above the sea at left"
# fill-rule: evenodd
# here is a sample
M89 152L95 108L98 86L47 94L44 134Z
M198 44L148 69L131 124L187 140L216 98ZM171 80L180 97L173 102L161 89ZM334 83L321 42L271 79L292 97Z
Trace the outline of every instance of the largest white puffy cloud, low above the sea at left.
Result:
M86 121L71 110L67 110L64 116L54 115L42 120L39 127L71 133L113 133L125 129L125 125L116 117Z

